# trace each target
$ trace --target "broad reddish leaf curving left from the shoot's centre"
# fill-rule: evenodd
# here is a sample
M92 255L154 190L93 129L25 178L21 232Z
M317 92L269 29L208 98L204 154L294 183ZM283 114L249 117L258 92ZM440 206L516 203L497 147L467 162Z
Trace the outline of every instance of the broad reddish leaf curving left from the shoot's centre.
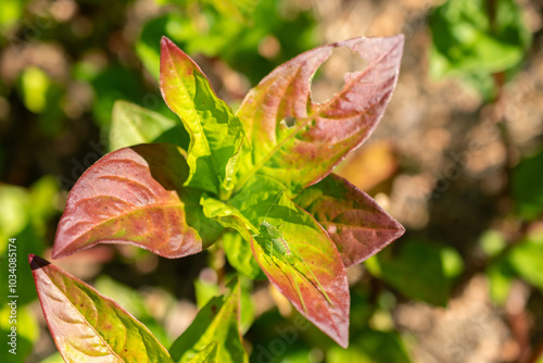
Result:
M53 259L97 243L130 243L171 259L201 251L219 227L203 216L200 195L181 187L187 175L180 149L167 143L103 157L70 192Z

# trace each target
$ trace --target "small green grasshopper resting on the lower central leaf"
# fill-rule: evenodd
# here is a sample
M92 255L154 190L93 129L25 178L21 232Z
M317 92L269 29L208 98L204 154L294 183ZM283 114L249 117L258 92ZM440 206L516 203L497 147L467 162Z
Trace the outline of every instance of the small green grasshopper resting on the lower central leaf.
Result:
M285 264L288 264L290 268L298 271L302 276L304 276L312 285L315 286L319 290L319 292L323 295L323 297L328 301L328 303L333 308L333 303L326 293L326 290L323 288L320 285L319 280L313 273L313 271L310 268L307 263L304 261L304 259L300 255L300 253L294 249L294 246L291 246L283 237L283 234L279 230L279 228L275 227L270 223L266 221L267 215L269 214L269 211L275 205L277 202L277 199L285 192L285 190L281 190L274 202L269 205L268 211L266 212L266 215L264 216L264 221L260 224L260 230L257 235L253 235L253 237L256 237L255 240L257 243L263 248L263 250L266 253L269 253L272 256L272 261L274 259L277 259L279 261L282 261ZM307 268L310 272L311 276L313 277L313 280L311 280L298 266L296 264L301 263ZM279 270L282 270L277 262L274 261L274 264L279 267ZM291 272L292 272L291 270ZM294 284L294 288L298 292L298 296L300 297L300 301L302 302L302 306L305 312L307 312L307 309L305 306L305 302L302 298L302 293L300 291L300 287L298 286L296 279L292 278L292 281Z

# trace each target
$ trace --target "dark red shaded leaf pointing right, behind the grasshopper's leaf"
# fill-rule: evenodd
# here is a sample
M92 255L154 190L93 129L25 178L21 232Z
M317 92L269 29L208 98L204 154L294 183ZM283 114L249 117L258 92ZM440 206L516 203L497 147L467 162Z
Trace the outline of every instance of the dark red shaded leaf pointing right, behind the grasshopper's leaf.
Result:
M328 231L345 267L365 261L405 231L368 195L334 174L294 201Z

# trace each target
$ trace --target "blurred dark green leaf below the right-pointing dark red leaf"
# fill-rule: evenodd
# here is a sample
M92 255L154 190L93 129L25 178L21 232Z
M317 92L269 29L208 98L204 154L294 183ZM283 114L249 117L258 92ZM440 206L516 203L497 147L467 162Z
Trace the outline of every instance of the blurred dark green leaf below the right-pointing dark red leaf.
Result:
M418 240L386 249L367 260L369 272L412 299L446 305L453 279L463 270L462 258L454 249Z

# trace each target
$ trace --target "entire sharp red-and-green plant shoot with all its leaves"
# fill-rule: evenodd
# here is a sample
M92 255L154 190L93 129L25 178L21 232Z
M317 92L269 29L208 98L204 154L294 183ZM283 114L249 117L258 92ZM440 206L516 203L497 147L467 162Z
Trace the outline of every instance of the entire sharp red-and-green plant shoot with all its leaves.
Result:
M351 298L345 267L377 253L404 228L331 171L381 120L397 80L403 43L400 35L310 50L275 68L233 112L192 59L163 38L160 88L179 120L165 122L127 102L116 105L114 135L131 117L144 118L152 135L134 140L126 135L123 143L132 146L110 152L81 175L70 191L52 258L98 243L129 243L179 259L233 231L242 238L231 245L239 251L226 255L239 274L254 271L244 264L257 264L300 314L346 348ZM343 88L328 101L313 102L311 80L338 47L362 57L367 67L346 74ZM154 142L173 127L186 129L188 147L185 137ZM140 143L141 138L152 142ZM248 362L239 284L212 299L189 327L190 336L182 335L166 351L113 301L37 256L30 263L66 361L108 352L125 362ZM77 321L63 320L63 309ZM125 335L129 347L119 340Z

